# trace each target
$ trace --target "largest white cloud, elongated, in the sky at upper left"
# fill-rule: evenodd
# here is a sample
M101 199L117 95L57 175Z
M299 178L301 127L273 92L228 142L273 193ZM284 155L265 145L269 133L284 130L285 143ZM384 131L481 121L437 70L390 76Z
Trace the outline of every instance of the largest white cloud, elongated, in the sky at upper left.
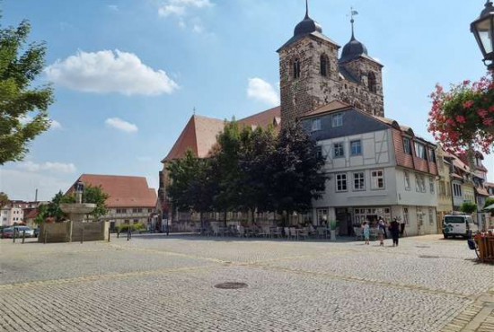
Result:
M144 65L133 53L79 51L45 69L50 81L80 92L159 95L179 88L163 70Z

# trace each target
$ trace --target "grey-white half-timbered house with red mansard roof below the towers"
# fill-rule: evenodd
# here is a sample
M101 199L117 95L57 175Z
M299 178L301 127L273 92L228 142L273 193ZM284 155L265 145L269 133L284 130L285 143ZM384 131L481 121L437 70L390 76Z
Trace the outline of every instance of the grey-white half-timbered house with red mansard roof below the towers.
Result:
M436 144L410 127L334 100L301 117L318 142L329 176L313 202L313 223L335 219L340 234L379 217L407 235L437 232Z

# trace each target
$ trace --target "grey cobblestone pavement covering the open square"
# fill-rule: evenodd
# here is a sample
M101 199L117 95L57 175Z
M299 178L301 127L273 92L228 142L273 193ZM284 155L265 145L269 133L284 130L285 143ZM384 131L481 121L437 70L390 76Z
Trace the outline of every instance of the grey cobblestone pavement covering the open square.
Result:
M492 332L494 266L474 255L438 236L0 240L0 331Z

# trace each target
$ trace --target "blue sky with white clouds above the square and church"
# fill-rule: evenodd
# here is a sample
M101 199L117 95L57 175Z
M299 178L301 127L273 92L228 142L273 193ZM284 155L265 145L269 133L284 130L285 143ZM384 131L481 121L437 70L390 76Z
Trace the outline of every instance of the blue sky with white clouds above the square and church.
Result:
M384 64L386 117L428 135L428 94L485 74L469 31L483 0L311 0L313 19L340 46L357 39ZM31 21L48 45L40 83L53 82L56 125L25 162L0 169L10 197L49 199L81 173L146 176L193 109L243 118L278 101L276 49L304 17L303 0L3 0L2 24ZM95 65L96 64L96 65ZM486 166L494 179L494 162Z

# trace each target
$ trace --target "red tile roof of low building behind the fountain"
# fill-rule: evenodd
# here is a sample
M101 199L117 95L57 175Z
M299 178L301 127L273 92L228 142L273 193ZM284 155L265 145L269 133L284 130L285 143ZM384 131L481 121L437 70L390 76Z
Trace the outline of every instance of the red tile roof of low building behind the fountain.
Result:
M156 205L156 191L147 186L147 180L143 177L83 174L77 180L82 181L85 186L101 186L110 196L106 200L108 207L149 208ZM73 187L68 192L73 192Z

